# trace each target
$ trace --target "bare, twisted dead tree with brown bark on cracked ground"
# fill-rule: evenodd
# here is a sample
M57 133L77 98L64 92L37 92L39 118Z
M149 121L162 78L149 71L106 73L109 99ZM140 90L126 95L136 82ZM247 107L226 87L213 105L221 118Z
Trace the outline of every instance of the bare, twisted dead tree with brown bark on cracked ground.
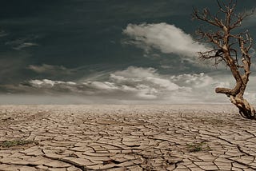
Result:
M213 59L214 65L224 64L230 69L236 85L233 89L216 88L216 93L224 93L239 109L242 117L255 119L255 109L243 97L246 85L249 82L252 38L249 32L236 33L242 21L252 13L235 13L237 2L218 2L217 14L211 14L209 9L199 11L194 9L193 18L211 26L211 30L198 30L203 41L211 44L212 48L206 52L199 52L199 57L207 60Z

